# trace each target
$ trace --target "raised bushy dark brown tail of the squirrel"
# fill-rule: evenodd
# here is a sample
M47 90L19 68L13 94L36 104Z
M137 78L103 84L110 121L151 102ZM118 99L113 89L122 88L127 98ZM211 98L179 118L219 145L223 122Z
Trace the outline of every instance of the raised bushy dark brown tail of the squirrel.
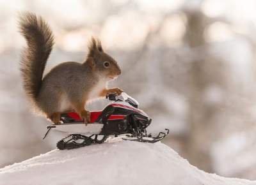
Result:
M47 23L41 17L36 17L34 13L22 13L19 26L20 33L27 42L20 60L23 87L29 100L35 105L54 38Z

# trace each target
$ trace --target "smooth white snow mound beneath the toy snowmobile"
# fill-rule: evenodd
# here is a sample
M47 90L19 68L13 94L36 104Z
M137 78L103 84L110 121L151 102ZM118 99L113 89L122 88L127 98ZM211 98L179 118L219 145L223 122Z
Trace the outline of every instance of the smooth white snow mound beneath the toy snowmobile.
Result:
M256 181L198 170L158 142L122 141L74 150L55 149L0 169L0 184L209 184Z

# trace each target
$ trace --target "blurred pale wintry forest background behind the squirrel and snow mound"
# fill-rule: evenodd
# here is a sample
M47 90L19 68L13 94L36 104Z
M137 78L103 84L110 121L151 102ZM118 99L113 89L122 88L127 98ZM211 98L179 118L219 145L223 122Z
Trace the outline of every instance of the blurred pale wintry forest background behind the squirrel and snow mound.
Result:
M49 22L56 38L45 72L84 61L91 36L122 68L111 82L140 102L152 133L189 163L225 177L256 179L256 1L0 0L0 168L56 148L63 135L29 111L17 13ZM106 105L100 101L90 110Z

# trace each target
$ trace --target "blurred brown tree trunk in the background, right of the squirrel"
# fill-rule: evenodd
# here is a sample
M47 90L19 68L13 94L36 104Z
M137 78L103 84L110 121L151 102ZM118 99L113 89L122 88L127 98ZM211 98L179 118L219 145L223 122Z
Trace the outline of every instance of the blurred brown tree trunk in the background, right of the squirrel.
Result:
M210 147L214 140L216 125L214 117L220 107L205 103L205 92L212 85L223 86L221 62L207 56L204 39L208 21L198 11L187 11L188 25L185 43L189 45L195 57L191 59L189 84L189 131L184 140L184 155L189 162L207 172L213 172ZM200 56L200 57L199 57Z

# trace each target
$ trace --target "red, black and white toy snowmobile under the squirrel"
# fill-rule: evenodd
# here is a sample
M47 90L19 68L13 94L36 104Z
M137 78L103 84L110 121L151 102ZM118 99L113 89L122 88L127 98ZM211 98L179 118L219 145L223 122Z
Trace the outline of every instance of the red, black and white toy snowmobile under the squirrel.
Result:
M146 128L152 119L138 108L138 101L122 93L109 94L111 103L102 111L90 112L91 123L84 124L76 112L61 114L60 124L47 126L47 136L51 129L68 133L57 143L60 150L74 149L91 144L101 144L110 136L125 135L123 140L154 143L162 140L169 133L160 132L157 137L147 134Z

